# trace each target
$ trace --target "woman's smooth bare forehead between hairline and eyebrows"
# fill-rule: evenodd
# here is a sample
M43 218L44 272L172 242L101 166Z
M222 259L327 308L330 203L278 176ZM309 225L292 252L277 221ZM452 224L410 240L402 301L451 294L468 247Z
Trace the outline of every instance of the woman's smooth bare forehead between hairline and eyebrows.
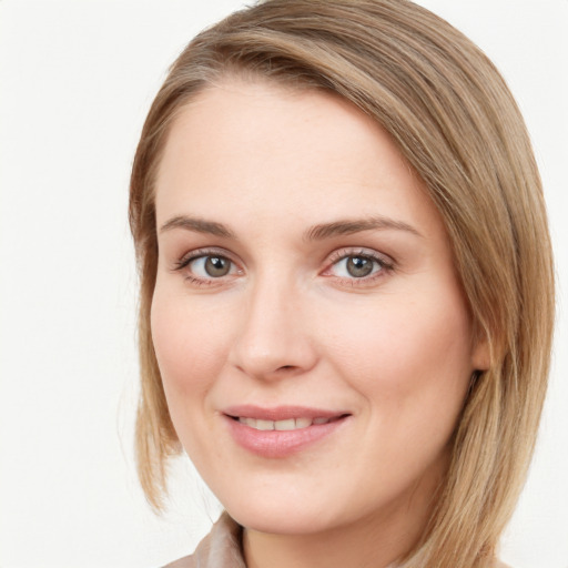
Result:
M320 222L326 220L314 215L393 210L407 221L439 223L389 135L334 94L264 81L227 81L184 106L156 181L159 222L211 212Z

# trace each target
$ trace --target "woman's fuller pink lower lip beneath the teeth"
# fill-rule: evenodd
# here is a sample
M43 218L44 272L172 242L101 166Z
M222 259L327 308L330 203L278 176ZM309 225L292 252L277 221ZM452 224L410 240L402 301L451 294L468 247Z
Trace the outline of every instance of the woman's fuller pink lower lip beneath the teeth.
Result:
M225 415L233 439L243 448L262 457L282 458L305 449L331 436L341 428L348 416L326 424L312 424L296 430L257 430Z

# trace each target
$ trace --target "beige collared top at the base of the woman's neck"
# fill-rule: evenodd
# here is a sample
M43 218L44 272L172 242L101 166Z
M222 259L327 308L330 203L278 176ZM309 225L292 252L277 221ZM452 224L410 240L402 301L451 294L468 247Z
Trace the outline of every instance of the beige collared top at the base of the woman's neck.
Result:
M242 531L243 527L223 513L193 555L170 562L164 568L246 568L241 549ZM496 560L494 568L509 567Z

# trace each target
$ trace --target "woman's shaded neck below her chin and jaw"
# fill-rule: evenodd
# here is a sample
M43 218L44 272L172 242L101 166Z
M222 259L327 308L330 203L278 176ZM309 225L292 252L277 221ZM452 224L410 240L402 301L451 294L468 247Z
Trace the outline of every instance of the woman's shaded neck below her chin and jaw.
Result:
M436 488L404 498L355 523L314 534L273 535L244 529L247 568L394 568L420 540Z

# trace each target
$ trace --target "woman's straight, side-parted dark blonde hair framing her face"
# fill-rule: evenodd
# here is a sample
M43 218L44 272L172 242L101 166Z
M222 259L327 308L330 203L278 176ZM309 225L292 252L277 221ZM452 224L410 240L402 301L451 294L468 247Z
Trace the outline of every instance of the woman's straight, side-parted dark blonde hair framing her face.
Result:
M199 34L144 124L130 222L141 273L138 467L155 509L180 443L150 334L154 180L179 110L227 74L323 89L376 120L424 180L490 367L476 376L440 498L405 566L490 566L518 498L545 398L554 268L542 190L519 110L487 57L406 0L267 0Z

